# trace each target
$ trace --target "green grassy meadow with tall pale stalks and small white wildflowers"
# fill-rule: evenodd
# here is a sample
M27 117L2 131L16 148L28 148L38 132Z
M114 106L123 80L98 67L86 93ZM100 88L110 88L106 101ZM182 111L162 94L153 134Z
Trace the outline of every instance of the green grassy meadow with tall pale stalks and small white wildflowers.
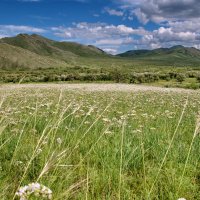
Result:
M200 199L198 93L0 91L0 199ZM41 198L39 198L41 199Z

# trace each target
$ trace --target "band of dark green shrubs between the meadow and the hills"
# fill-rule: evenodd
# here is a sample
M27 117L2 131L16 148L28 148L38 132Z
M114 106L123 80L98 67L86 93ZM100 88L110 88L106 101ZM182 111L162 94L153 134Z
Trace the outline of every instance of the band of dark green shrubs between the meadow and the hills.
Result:
M102 70L97 69L83 72L82 68L69 68L68 70L4 70L0 71L0 83L42 83L42 82L113 82L130 84L149 84L156 86L182 87L198 89L199 72L179 71L167 72L164 70L155 72L128 72L127 70ZM85 69L85 71L87 71ZM170 71L170 70L169 70ZM192 74L192 75L191 75Z

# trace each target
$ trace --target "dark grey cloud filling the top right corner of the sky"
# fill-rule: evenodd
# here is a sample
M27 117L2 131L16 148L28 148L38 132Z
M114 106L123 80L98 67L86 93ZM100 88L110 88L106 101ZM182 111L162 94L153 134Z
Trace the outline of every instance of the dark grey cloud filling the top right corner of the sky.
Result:
M149 20L162 22L200 17L199 0L120 0L138 19L147 23Z

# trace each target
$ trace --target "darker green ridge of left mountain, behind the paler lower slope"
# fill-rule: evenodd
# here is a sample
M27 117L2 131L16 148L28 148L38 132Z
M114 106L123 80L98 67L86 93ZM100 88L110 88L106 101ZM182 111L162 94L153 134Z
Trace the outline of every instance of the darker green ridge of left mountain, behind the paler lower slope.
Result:
M57 42L36 34L19 34L16 37L3 38L0 42L64 61L77 56L107 56L104 51L92 46L85 46L74 42Z

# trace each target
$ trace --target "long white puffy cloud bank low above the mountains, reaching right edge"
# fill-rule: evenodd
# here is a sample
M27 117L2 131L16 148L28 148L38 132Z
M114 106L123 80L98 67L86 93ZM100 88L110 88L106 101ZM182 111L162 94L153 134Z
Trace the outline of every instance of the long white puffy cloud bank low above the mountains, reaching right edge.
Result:
M188 24L188 29L185 25ZM144 28L133 28L106 23L76 23L71 27L53 27L56 36L67 40L75 40L87 44L94 44L102 49L154 49L169 47L177 44L195 46L200 44L200 22L169 21L165 26L147 31ZM200 30L200 29L199 29ZM126 47L126 48L124 48Z

